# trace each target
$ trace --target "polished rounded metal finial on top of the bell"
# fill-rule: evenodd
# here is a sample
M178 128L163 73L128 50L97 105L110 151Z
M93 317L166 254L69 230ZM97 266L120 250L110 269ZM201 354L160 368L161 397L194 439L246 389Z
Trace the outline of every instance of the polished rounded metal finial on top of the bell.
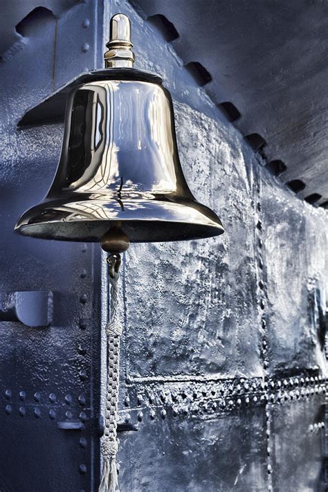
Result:
M127 15L111 17L110 39L106 44L109 51L104 53L106 69L133 68L134 53L131 51L131 25Z

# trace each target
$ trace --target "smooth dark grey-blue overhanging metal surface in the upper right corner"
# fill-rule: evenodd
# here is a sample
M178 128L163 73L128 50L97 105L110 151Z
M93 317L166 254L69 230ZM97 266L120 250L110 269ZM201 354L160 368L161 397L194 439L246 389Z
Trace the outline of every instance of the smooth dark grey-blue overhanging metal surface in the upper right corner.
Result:
M327 2L131 3L151 26L173 30L181 64L215 103L233 104L235 125L267 161L284 163L282 181L300 179L300 196L327 203Z

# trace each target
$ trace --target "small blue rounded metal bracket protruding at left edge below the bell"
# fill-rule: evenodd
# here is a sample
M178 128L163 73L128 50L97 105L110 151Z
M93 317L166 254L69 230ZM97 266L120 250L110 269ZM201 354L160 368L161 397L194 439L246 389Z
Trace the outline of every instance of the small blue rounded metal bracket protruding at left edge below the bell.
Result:
M20 321L28 327L46 327L52 320L51 291L0 292L0 321Z

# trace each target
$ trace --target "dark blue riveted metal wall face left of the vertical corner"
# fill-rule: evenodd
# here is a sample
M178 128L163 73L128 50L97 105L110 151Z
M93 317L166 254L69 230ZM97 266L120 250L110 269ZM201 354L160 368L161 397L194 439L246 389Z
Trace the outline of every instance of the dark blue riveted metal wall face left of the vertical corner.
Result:
M53 292L52 319L42 323L48 327L27 326L37 313L26 295L24 305L16 302L18 319L0 321L1 491L91 491L98 484L100 248L22 241L12 228L51 183L63 131L19 131L17 121L55 87L98 65L100 10L100 3L71 2L57 17L32 17L24 48L0 66L0 289L20 298L30 291L33 302L37 293Z

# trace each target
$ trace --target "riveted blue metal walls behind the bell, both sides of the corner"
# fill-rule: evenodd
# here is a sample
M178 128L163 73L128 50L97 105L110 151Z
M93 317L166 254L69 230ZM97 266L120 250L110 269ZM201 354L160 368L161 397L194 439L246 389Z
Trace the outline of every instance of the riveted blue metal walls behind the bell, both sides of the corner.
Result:
M161 33L114 0L104 12L89 0L36 23L0 66L1 289L60 293L51 327L0 322L0 490L98 490L104 256L98 246L13 235L17 217L51 183L63 129L17 131L16 122L53 89L102 66L106 26L118 11L131 18L136 67L161 73L172 93L190 188L226 228L219 238L132 245L125 255L120 420L138 431L119 436L120 489L323 491L327 212L282 188ZM45 57L55 39L55 56ZM57 428L85 418L82 431Z

